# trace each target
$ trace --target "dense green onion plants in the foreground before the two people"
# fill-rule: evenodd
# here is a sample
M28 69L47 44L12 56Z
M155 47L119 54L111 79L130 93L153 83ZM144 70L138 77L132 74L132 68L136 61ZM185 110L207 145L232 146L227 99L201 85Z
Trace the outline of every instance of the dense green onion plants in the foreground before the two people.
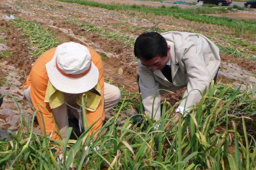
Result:
M186 99L185 99L186 100ZM248 104L244 104L248 101ZM248 117L233 111L255 106L255 91L232 85L212 85L186 117L166 130L176 105L163 101L162 117L133 123L134 117L118 126L119 105L114 117L89 135L92 127L77 140L53 140L50 135L32 132L33 122L24 120L18 133L8 132L11 140L0 142L2 169L256 169L254 136L246 129ZM242 105L241 105L242 104ZM140 103L141 105L141 103ZM241 106L243 108L241 108ZM251 113L251 110L248 109ZM35 111L40 114L40 111ZM241 122L241 123L240 123ZM173 122L175 123L175 122ZM156 128L156 124L160 124ZM60 152L61 151L61 152Z

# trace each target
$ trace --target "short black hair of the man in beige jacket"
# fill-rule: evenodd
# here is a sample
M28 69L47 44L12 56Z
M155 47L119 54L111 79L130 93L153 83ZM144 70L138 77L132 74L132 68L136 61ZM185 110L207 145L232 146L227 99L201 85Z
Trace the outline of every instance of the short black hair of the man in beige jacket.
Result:
M134 43L134 56L148 61L154 56L167 56L167 41L157 32L145 32L139 35Z

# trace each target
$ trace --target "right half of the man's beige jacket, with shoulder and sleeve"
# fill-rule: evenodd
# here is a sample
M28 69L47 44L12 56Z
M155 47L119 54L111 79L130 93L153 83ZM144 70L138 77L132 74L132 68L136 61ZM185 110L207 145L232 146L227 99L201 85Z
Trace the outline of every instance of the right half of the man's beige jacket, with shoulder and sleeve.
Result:
M201 34L170 31L162 34L170 45L173 85L186 85L177 111L188 111L218 72L219 47ZM186 98L189 95L188 98Z

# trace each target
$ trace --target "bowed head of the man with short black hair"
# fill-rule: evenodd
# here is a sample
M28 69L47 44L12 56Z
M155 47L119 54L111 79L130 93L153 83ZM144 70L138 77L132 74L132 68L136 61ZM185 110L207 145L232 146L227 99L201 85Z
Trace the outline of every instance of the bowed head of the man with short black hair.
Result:
M163 36L156 32L141 34L134 43L134 56L144 66L151 69L163 69L170 59L170 47Z

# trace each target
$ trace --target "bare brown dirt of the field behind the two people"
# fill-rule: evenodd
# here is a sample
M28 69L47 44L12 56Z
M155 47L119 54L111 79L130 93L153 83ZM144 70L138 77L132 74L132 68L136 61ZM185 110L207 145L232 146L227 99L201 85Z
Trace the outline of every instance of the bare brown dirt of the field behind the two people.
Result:
M96 2L102 2L95 0ZM108 3L128 3L139 4L142 2L136 1L107 1ZM148 5L148 4L147 4ZM15 18L22 18L26 21L36 21L49 27L53 30L54 35L57 36L60 42L75 41L83 43L96 52L108 56L105 59L105 78L119 88L125 88L125 91L138 91L136 82L137 64L133 55L133 48L125 46L124 42L118 40L111 40L107 37L102 37L99 34L84 30L76 24L67 22L68 20L76 20L85 24L93 24L99 28L107 28L113 33L120 33L128 35L134 39L145 30L136 30L136 27L144 25L151 25L157 21L160 24L157 27L173 27L173 30L183 30L184 27L182 19L177 25L170 25L168 20L171 17L160 18L151 16L153 20L148 20L147 16L139 16L123 11L109 11L102 8L94 8L77 4L70 4L64 2L57 2L53 0L2 0L0 1L0 27L2 27L0 36L4 41L0 42L0 50L8 50L11 52L11 58L0 59L0 78L2 94L10 94L18 99L18 104L25 117L31 117L34 113L31 105L24 99L22 85L30 72L31 64L36 57L29 55L31 51L28 42L24 40L24 35L18 27L11 25L10 21L6 20L5 16L13 15ZM245 12L238 12L232 14L225 14L226 17L231 18L245 18L256 21L256 14L249 14ZM130 31L127 28L131 28ZM202 24L202 27L203 24ZM203 28L200 28L203 31ZM203 31L203 34L209 34L208 31ZM219 82L233 83L235 85L248 82L256 83L254 75L256 73L256 66L254 62L248 59L238 59L227 54L222 54L222 65L219 72ZM171 95L172 103L178 101L182 96L182 91ZM5 130L16 130L20 121L19 111L17 105L12 98L5 97L5 102L0 108L0 139L5 136ZM40 132L39 127L35 126L35 131Z

